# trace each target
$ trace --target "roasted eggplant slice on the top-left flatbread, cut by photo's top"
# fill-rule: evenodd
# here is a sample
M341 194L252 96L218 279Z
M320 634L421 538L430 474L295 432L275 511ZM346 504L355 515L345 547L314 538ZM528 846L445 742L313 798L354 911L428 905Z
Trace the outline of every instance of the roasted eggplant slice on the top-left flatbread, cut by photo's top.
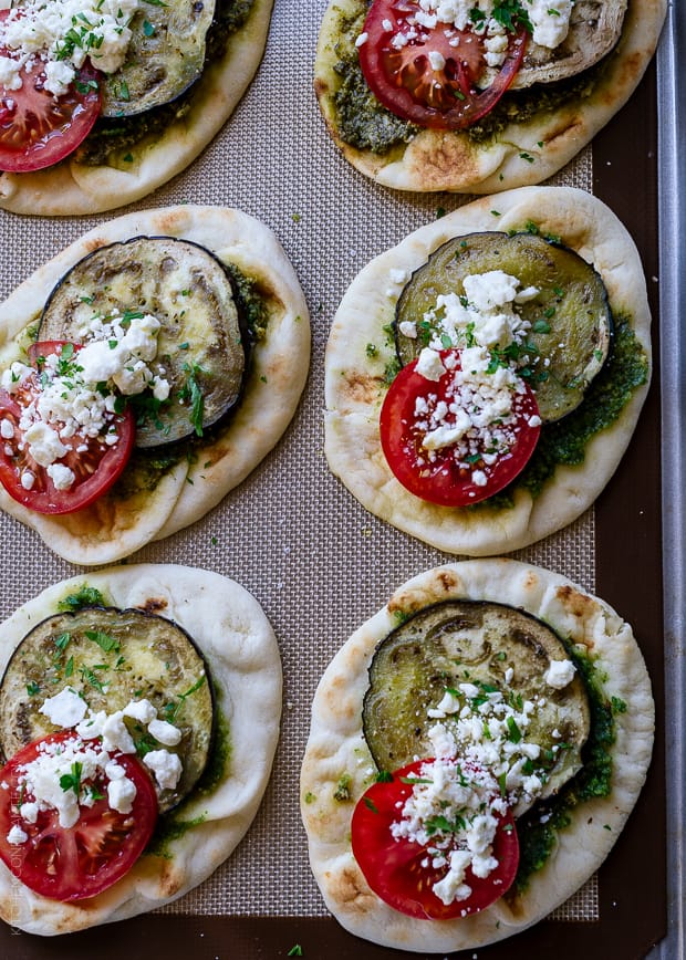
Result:
M126 63L103 85L103 116L132 116L169 103L202 73L215 0L166 0L144 7L129 23Z

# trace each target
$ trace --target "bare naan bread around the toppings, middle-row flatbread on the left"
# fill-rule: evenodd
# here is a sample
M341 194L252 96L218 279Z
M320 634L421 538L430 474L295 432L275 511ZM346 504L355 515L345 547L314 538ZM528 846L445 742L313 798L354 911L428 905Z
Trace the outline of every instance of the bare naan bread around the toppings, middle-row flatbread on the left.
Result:
M0 490L2 510L37 530L60 556L83 565L127 556L150 540L188 526L219 503L279 440L309 369L306 303L273 232L241 211L193 205L111 220L37 270L0 305L0 365L18 358L22 331L37 323L52 289L74 263L100 247L142 236L190 240L238 267L264 299L267 332L253 349L240 406L197 456L184 455L158 474L143 473L133 486L126 486L125 470L118 484L91 507L62 516L28 510Z

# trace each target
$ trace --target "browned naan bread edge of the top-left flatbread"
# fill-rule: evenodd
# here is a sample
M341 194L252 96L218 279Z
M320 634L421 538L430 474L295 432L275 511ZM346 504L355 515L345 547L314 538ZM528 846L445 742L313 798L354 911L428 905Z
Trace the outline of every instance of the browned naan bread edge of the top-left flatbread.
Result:
M117 168L67 160L30 174L0 174L0 208L43 217L98 213L133 204L180 174L219 133L254 76L272 6L273 0L254 0L224 58L198 82L193 109L136 147L133 163Z

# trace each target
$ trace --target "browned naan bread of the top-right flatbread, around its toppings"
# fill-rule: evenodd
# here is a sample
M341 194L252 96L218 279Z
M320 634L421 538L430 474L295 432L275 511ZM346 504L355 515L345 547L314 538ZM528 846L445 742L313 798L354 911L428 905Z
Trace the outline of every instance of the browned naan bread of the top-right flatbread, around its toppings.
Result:
M406 142L398 140L385 153L374 153L368 146L345 142L336 106L346 75L336 67L351 58L356 60L354 44L362 32L367 3L331 0L320 31L314 67L314 87L330 133L354 167L398 190L488 194L540 184L574 157L623 106L655 52L666 0L630 0L620 40L612 52L599 66L578 74L581 83L570 81L565 74L593 60L599 36L610 42L614 39L617 17L614 11L607 15L603 15L602 9L599 11L606 6L621 12L624 4L615 0L576 3L573 17L579 22L562 52L553 51L552 63L545 58L539 62L539 48L524 62L523 84L563 76L564 83L575 84L571 95L560 97L551 84L538 83L531 87L533 109L518 101L519 93L506 93L505 102L510 100L511 113L508 107L507 117L489 134L472 136L464 131L423 129L408 134Z

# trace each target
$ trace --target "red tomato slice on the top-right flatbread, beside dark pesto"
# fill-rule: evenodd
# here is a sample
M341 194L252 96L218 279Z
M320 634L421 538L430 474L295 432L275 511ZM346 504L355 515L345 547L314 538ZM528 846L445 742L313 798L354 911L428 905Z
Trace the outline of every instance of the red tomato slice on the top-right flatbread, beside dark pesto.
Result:
M374 0L363 28L367 39L358 48L362 72L392 113L423 127L464 129L492 109L514 80L527 31L511 35L502 66L480 91L485 60L478 34L450 23L423 27L412 22L417 12L416 0ZM398 34L409 38L404 45L393 43Z

